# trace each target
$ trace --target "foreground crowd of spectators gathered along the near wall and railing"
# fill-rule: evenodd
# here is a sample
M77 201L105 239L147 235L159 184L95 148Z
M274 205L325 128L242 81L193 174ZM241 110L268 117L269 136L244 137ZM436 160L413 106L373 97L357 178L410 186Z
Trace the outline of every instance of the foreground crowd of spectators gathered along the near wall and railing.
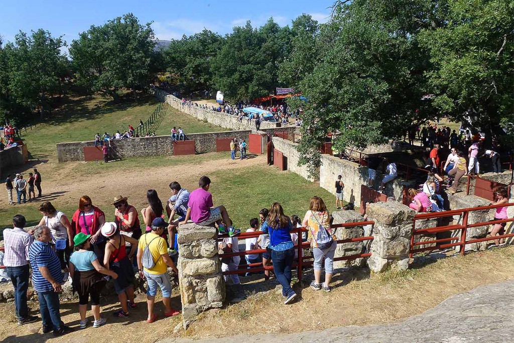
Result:
M224 252L237 252L237 237L240 229L234 227L223 206L214 206L209 192L211 180L202 176L198 189L191 193L183 189L177 181L169 186L171 197L163 206L155 190L146 194L148 207L141 210L142 220L136 208L128 204L128 197L117 196L112 203L115 221L106 221L105 212L93 205L87 195L79 199L77 211L68 216L56 209L50 201L39 206L42 218L30 231L25 231L26 219L17 214L13 217L13 228L4 230L4 265L14 286L15 314L20 325L38 320L29 313L27 290L29 275L38 294L43 333L53 332L60 336L69 332L61 320L59 293L62 285L69 280L79 295L78 315L80 328L89 325L87 306L91 305L93 327L105 324L106 317L101 313L100 293L109 280L120 303L113 312L115 317L126 318L137 309L134 301L133 266L137 266L139 277L148 283L146 321L157 319L154 311L157 290L162 293L164 316L170 317L180 312L171 307L172 282L168 268L175 275L178 270L172 257L178 249L176 233L180 225L193 223L201 226L215 226L220 235L219 249ZM168 215L167 219L164 213ZM315 279L310 287L314 290L331 291L331 278L334 272L333 260L336 249L335 232L331 229L332 216L329 215L323 199L313 197L303 220L297 215L284 214L279 203L259 212L259 219L250 220L248 232L262 231L259 238L246 240L247 250L265 249L263 254L252 253L245 256L248 268L261 263L269 266L273 261L273 273L282 285L284 304L289 304L297 293L291 288L291 267L296 255L298 234L293 228L305 227L301 241L309 241L314 256ZM144 232L143 232L144 229ZM222 270L238 269L239 256L223 257ZM322 277L325 268L324 281ZM32 272L29 273L29 268ZM269 270L265 272L269 279ZM246 275L249 275L247 273ZM230 276L235 285L240 283L237 274ZM229 276L225 279L228 281Z

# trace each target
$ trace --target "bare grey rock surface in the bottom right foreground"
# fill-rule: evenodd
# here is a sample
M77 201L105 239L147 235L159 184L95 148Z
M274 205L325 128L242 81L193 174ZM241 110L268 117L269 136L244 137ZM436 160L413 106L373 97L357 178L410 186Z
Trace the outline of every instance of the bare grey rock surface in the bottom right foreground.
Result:
M449 297L423 314L384 325L340 327L289 335L237 335L201 340L172 338L158 343L488 343L512 341L514 280ZM194 325L194 324L193 324Z

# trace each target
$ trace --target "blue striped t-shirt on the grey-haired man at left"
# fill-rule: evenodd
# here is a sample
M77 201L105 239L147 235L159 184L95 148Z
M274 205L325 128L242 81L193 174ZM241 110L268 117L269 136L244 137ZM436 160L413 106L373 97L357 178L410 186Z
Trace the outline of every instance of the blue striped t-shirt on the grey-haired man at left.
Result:
M34 240L29 248L30 266L32 267L32 286L37 292L53 290L52 284L41 274L39 268L47 267L50 275L58 283L62 283L61 263L59 257L48 243Z

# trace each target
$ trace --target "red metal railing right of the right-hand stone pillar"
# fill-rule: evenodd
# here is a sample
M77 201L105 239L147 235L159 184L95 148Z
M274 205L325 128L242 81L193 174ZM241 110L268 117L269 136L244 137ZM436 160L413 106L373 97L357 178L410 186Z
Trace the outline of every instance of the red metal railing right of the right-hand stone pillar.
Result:
M499 208L499 207L509 207L509 206L514 206L514 203L465 208L465 209L458 209L458 210L444 211L444 212L431 212L431 213L416 214L414 216L414 223L412 225L411 248L410 248L409 256L412 258L415 253L429 251L429 250L442 250L442 249L458 247L458 246L461 247L460 254L464 255L465 247L467 244L478 243L478 242L488 241L488 240L501 239L501 238L514 237L514 233L509 233L509 234L504 234L504 235L499 235L499 236L489 236L489 237L484 237L484 238L476 238L476 239L466 240L466 233L467 233L468 228L475 228L475 227L479 227L479 226L489 226L489 225L501 224L501 223L509 223L510 221L514 221L514 218L507 218L507 219L501 219L501 220L488 220L488 221L484 221L482 223L468 224L468 217L469 217L470 212L490 210L490 209L495 209L495 208ZM451 217L453 215L462 215L462 224L453 224L453 225L446 225L446 226L439 226L439 227L418 229L418 230L415 229L416 220ZM440 239L420 241L418 243L414 243L415 236L418 236L418 235L434 234L434 233L454 231L454 230L461 230L460 237L454 236L454 237L449 237L449 238L440 238ZM453 240L458 240L458 241L455 243L448 243ZM428 245L428 244L435 244L435 246L416 248L416 247Z

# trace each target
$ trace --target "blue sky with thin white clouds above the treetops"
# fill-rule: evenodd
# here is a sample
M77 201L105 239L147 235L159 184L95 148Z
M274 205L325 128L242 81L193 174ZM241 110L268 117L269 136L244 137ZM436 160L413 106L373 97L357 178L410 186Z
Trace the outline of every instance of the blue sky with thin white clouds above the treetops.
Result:
M328 8L334 0L45 0L23 2L0 0L0 35L13 41L19 30L30 32L43 28L53 36L64 35L70 44L80 32L91 25L102 25L124 13L134 13L141 23L154 22L159 39L180 38L205 28L225 34L232 27L245 25L248 19L254 27L263 25L272 16L281 26L302 13L326 22Z

